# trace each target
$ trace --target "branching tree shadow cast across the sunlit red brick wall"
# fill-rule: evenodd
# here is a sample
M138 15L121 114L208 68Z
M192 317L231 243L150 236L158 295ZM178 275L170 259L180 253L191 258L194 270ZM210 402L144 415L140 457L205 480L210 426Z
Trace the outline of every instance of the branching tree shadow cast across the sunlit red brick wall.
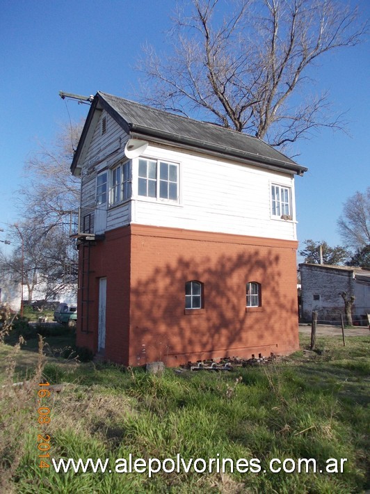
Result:
M289 250L289 249L287 249ZM147 267L131 285L131 364L152 360L178 362L219 356L241 356L259 346L295 350L298 344L296 279L284 273L282 256L271 248L239 249L236 255L179 255L173 262L159 258L150 276ZM285 264L286 265L286 264ZM143 273L143 276L140 276ZM204 310L185 311L185 283L202 282ZM262 287L262 307L246 310L246 283ZM185 313L186 312L186 313ZM213 353L212 353L213 352ZM224 355L223 355L224 353ZM176 359L176 358L175 358ZM176 360L175 360L176 361Z

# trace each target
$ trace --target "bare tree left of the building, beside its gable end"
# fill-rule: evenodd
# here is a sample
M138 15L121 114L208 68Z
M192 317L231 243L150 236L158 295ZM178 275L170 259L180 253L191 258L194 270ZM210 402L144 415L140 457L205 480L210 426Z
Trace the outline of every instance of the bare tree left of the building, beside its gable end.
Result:
M80 180L70 173L82 125L65 127L51 145L41 145L27 161L26 185L19 191L22 223L15 229L15 249L1 254L3 276L24 282L31 301L35 287L56 298L77 288L77 252L70 240L70 212L79 206ZM23 255L22 255L23 250Z

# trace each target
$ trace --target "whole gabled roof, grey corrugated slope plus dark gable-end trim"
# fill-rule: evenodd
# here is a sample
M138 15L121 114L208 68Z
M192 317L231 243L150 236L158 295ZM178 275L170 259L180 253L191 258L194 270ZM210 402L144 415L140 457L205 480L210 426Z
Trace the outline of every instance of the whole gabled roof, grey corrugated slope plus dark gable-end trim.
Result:
M88 140L90 123L97 109L105 109L131 137L198 150L285 173L303 175L307 171L307 168L296 164L259 138L98 91L90 107L77 152L74 154L72 173L77 167L85 141Z

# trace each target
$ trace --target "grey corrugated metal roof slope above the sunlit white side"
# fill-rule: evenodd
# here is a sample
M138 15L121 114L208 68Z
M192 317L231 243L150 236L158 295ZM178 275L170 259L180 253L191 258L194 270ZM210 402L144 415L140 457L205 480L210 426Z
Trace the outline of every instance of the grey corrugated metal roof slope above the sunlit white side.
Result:
M131 132L147 136L159 136L176 143L188 143L202 150L218 151L225 156L240 156L259 163L270 164L294 173L304 173L307 168L296 164L284 154L259 138L225 129L209 122L174 115L159 109L129 101L99 91L99 102L108 111L123 119ZM126 127L126 125L124 125Z

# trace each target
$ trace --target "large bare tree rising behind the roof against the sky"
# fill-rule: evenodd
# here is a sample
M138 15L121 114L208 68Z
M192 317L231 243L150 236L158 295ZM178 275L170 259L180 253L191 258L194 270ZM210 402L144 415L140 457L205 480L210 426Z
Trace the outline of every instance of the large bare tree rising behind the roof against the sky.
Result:
M366 30L357 9L337 0L192 0L190 12L177 10L166 52L145 47L143 101L198 111L274 146L318 127L341 128L341 117L328 117L327 95L310 93L307 69L357 45Z

